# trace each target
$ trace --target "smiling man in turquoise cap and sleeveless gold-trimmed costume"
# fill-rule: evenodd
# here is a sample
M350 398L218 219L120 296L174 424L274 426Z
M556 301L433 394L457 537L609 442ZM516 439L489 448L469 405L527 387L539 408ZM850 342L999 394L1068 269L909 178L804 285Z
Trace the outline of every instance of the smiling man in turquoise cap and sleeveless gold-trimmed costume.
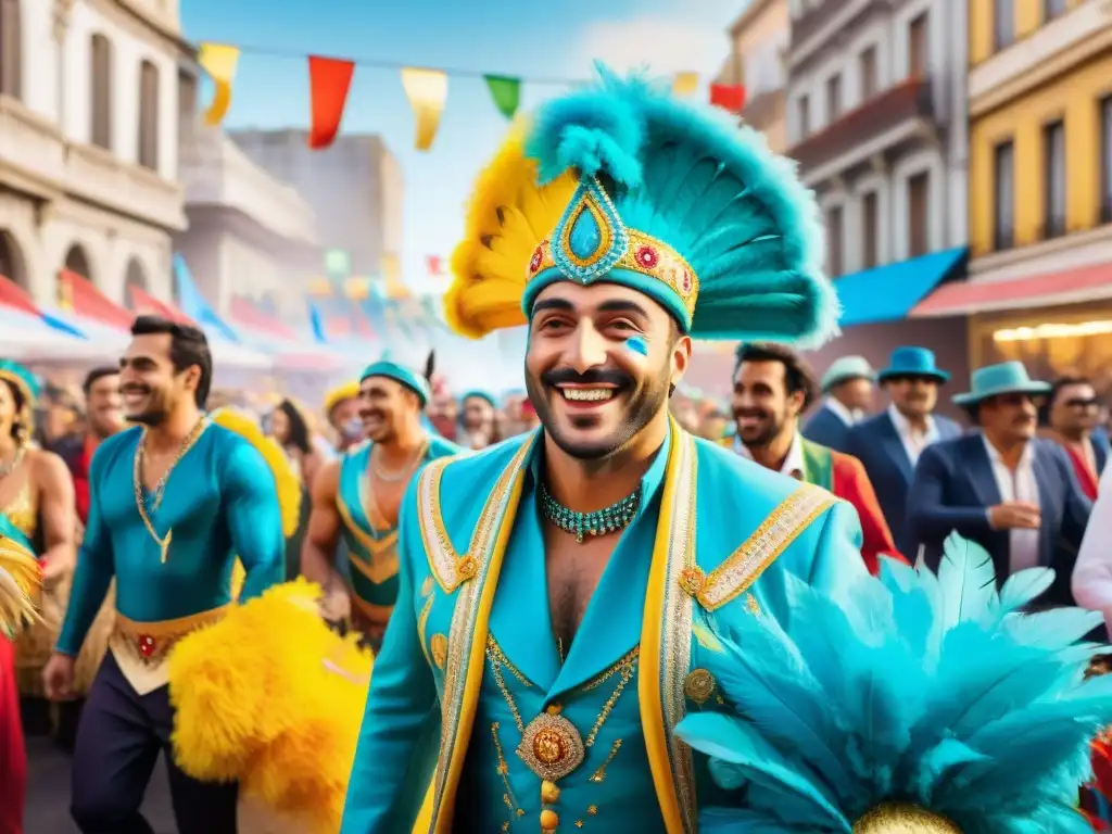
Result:
M429 358L429 370L431 357ZM377 648L398 596L398 506L425 464L459 449L421 419L429 400L426 377L388 358L367 366L359 380L359 417L366 440L321 470L301 570L322 588L345 588L332 555L340 537L350 567L350 602L325 602L328 619L345 618ZM340 592L346 593L346 590Z

